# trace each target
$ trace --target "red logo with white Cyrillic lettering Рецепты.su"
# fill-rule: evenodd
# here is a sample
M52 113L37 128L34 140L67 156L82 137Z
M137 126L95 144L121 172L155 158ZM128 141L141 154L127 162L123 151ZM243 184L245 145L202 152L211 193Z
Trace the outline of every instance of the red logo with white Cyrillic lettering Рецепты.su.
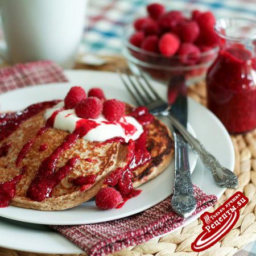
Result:
M236 192L213 213L203 213L200 217L204 224L203 232L192 243L192 250L197 252L204 251L220 241L236 224L240 217L239 210L248 201L243 193Z

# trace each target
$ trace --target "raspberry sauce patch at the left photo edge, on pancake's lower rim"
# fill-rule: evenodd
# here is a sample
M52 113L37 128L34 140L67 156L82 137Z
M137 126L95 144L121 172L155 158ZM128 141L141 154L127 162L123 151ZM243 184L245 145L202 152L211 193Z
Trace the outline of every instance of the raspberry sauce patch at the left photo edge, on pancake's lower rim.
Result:
M16 175L12 180L0 183L0 208L7 207L15 196L16 183L20 181L27 166L22 168L20 174Z

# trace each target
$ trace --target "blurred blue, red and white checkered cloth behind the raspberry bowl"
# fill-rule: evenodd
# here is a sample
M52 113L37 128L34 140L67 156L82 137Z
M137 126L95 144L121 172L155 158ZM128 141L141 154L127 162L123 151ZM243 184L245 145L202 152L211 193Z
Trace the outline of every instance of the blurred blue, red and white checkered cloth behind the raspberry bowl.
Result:
M89 24L81 43L81 52L120 54L123 26L143 14L148 0L91 0ZM217 18L256 17L255 0L162 0L168 9L211 10Z

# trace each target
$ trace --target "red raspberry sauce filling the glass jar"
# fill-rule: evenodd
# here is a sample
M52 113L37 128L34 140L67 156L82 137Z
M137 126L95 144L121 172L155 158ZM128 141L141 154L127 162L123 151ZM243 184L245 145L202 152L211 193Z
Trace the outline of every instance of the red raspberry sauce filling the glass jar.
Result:
M250 52L232 47L220 51L207 73L208 108L230 133L256 127L255 71Z

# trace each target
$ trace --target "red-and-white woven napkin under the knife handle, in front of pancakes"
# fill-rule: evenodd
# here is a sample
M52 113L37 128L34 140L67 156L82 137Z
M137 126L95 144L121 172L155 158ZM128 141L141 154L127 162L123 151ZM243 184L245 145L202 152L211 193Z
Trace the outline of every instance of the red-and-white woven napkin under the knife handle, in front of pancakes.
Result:
M205 195L194 185L195 213L212 206L217 197ZM185 219L171 209L171 198L119 220L75 226L52 226L90 256L104 256L131 245L147 242L184 224Z

